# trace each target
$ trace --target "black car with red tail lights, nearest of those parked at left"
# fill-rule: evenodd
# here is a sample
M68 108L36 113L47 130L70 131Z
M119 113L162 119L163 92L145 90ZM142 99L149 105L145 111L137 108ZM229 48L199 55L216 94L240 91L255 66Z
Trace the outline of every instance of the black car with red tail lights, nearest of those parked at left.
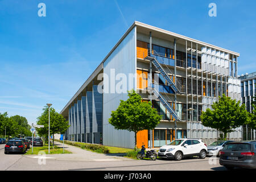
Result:
M26 146L22 140L9 140L5 145L5 154L26 152Z

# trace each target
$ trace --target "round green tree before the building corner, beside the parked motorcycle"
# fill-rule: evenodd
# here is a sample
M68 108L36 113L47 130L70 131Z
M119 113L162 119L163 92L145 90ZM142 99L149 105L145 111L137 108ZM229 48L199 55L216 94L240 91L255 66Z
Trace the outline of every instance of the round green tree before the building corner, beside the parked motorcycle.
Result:
M133 131L137 147L138 131L154 129L162 117L156 109L152 109L151 102L142 102L141 96L134 90L128 92L128 96L126 101L120 100L117 110L112 111L109 123L117 130Z

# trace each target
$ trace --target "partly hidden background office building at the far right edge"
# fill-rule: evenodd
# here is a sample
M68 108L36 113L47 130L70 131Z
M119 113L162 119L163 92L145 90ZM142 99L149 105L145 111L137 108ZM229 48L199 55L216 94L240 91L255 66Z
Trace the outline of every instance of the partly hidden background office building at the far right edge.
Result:
M238 77L241 79L241 102L245 104L245 108L248 112L253 111L251 103L254 101L256 93L256 72L245 73ZM242 136L243 140L255 140L256 130L251 129L248 125L243 125Z

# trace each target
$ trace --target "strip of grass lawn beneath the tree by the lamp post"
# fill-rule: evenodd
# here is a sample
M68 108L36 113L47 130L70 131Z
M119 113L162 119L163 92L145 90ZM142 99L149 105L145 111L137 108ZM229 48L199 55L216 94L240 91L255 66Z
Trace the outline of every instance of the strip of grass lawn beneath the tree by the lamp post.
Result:
M43 147L33 147L33 154L31 146L24 155L38 155L39 151L44 151L46 152L46 154L48 154L48 145L44 145ZM52 146L50 146L50 154L63 154L63 148L57 146L54 146L54 148L52 148ZM64 149L64 154L72 154L72 152Z

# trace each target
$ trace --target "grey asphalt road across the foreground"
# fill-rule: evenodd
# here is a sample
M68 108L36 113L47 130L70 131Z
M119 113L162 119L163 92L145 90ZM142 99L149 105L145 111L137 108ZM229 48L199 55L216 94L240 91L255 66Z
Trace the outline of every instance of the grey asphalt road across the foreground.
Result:
M22 154L4 154L5 144L0 144L0 170L96 170L96 171L223 171L225 167L220 166L217 160L212 158L193 158L175 160L122 160L122 161L95 161L80 162L71 160L38 159L29 158ZM65 155L65 154L63 154ZM44 164L45 161L45 164Z

